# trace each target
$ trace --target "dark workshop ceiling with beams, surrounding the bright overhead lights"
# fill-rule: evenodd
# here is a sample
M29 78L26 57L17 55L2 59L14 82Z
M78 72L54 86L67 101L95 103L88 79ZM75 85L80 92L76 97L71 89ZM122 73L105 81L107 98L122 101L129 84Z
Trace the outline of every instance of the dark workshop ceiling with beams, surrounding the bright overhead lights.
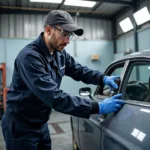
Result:
M0 13L46 14L50 10L61 9L72 15L110 20L128 9L134 8L142 0L93 0L96 1L93 8L66 6L64 1L61 4L53 4L33 3L29 0L0 0Z

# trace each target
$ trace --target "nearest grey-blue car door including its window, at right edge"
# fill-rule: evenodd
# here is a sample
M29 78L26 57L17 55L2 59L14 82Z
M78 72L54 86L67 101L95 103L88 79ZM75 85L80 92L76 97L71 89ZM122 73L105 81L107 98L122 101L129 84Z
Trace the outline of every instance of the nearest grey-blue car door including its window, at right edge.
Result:
M110 67L117 69L117 65ZM110 74L111 75L111 74ZM101 123L101 150L150 149L150 61L127 60L118 93L125 105Z

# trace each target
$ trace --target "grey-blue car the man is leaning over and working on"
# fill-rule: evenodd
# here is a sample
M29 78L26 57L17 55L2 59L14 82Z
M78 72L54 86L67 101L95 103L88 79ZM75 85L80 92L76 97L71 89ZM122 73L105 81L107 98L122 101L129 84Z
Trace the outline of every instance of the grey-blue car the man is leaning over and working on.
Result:
M103 101L122 93L125 105L108 115L89 119L71 116L74 150L150 150L150 50L134 52L113 61L105 75L120 75L117 90L98 85L79 90L80 96Z

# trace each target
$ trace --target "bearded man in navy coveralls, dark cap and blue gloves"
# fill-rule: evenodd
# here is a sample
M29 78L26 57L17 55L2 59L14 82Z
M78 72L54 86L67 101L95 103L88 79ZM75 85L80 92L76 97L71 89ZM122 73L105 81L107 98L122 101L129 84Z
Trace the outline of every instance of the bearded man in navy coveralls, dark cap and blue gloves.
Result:
M67 12L51 11L44 21L44 33L18 54L2 118L7 150L50 150L47 121L52 109L89 118L91 114L115 112L124 104L118 100L121 94L98 103L59 89L64 75L86 84L117 88L114 80L118 77L81 66L64 50L74 33L81 36L83 29Z

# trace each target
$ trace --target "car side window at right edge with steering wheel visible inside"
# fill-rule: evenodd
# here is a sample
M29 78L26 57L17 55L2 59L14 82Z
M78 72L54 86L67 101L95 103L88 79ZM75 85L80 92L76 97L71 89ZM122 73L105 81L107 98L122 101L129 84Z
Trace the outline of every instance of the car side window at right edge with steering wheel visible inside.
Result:
M124 98L150 102L150 62L133 64L127 76Z

